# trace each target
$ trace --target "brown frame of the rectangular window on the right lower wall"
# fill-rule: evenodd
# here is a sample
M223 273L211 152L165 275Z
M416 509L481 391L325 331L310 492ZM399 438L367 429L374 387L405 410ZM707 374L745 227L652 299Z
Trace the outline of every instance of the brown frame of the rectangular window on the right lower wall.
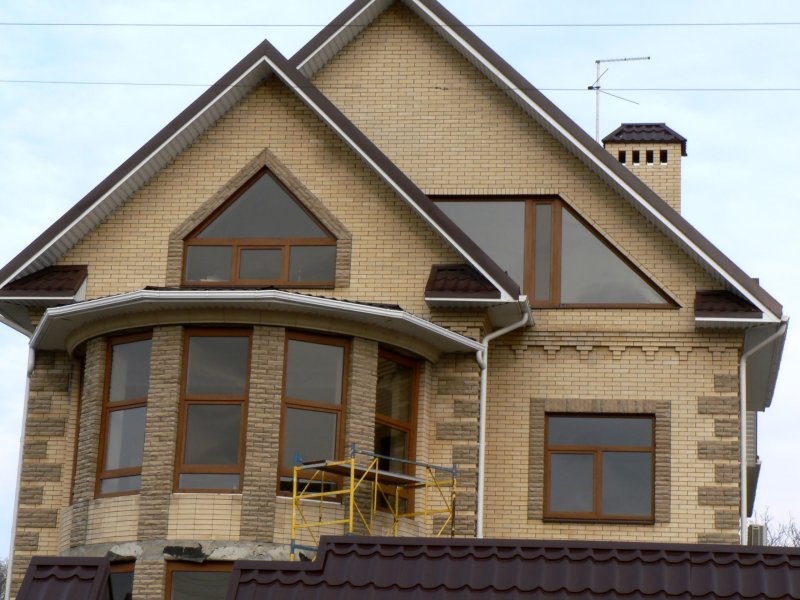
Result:
M651 425L651 444L646 446L613 446L613 445L551 445L550 417L566 418L615 418L615 419L649 419ZM602 460L604 452L649 452L650 453L650 514L638 515L604 515L601 511L602 501ZM550 510L550 457L552 454L582 454L594 455L594 510L591 513L555 512ZM547 413L544 424L544 503L543 518L545 521L580 521L598 523L655 523L655 496L656 496L656 417L652 414L613 414L613 413Z

